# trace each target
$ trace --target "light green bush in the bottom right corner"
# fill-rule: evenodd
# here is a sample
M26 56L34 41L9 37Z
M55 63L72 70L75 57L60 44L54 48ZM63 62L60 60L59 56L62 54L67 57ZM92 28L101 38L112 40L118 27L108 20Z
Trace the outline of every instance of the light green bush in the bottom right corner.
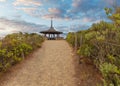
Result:
M104 76L106 86L120 86L120 69L111 63L100 65L100 71Z

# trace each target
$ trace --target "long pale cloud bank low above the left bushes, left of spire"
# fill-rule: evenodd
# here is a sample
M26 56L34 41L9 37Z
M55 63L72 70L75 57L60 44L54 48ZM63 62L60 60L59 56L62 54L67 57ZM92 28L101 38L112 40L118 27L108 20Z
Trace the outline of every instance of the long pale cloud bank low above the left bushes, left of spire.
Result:
M9 34L14 32L39 33L40 31L47 30L48 28L49 27L47 27L46 25L0 18L0 34Z

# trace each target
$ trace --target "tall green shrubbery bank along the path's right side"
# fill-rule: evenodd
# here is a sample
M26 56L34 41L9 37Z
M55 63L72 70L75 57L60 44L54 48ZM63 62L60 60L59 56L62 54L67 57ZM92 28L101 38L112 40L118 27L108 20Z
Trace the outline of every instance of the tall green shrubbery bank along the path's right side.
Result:
M73 47L76 43L78 55L99 69L104 86L120 86L120 8L105 11L111 23L101 21L87 30L70 32L66 40Z

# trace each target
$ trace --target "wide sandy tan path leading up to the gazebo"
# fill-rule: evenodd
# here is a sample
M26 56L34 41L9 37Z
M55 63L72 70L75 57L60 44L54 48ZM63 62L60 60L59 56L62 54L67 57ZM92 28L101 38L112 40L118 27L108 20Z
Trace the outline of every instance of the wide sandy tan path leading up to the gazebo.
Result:
M0 86L76 86L72 49L63 40L45 41L1 81Z

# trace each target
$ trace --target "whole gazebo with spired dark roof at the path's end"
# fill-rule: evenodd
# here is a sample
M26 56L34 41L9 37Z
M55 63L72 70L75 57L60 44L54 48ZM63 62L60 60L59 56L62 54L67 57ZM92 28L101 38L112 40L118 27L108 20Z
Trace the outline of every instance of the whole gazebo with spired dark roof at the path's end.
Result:
M56 31L53 27L53 21L51 18L51 27L48 30L45 31L41 31L40 33L44 34L44 37L47 38L48 40L57 40L57 39L61 39L60 34L62 34L63 32L60 31Z

